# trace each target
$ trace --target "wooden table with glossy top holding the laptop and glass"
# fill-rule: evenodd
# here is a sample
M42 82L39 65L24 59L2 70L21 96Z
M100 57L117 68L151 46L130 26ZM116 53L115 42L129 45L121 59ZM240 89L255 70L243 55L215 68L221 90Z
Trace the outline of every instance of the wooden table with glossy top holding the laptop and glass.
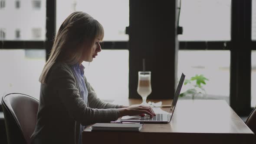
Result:
M171 100L162 101L171 104ZM129 99L114 103L133 105L140 102ZM143 124L140 132L91 131L87 127L82 138L84 144L253 144L254 134L226 101L179 100L168 124Z

